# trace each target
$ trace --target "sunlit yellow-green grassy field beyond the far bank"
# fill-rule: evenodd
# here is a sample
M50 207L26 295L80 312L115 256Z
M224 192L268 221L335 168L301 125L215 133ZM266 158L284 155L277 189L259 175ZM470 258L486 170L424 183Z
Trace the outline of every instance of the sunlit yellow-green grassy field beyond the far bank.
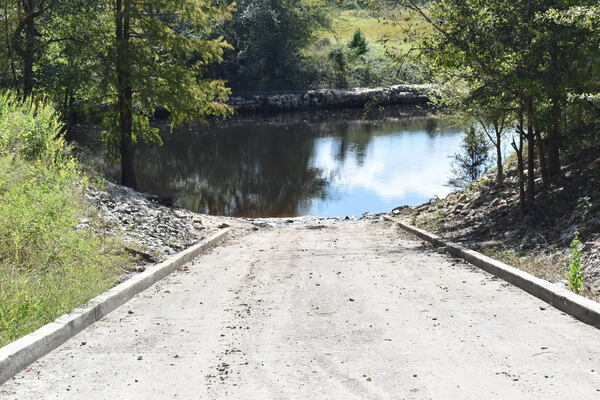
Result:
M367 42L366 54L349 49L360 29ZM331 27L317 32L314 44L304 49L308 65L317 66L316 86L374 87L398 83L423 83L422 68L410 53L413 39L431 32L422 18L401 9L340 10L333 13ZM406 57L409 55L411 57Z

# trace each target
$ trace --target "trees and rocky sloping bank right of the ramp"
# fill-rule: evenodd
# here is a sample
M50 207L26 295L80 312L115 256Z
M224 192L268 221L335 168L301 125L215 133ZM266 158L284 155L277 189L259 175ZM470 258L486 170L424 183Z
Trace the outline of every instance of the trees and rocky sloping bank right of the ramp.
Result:
M429 23L431 34L409 42L441 88L438 106L469 128L449 182L459 192L417 209L413 221L473 246L501 241L506 248L484 248L600 295L597 2L385 3ZM496 163L486 173L490 147Z

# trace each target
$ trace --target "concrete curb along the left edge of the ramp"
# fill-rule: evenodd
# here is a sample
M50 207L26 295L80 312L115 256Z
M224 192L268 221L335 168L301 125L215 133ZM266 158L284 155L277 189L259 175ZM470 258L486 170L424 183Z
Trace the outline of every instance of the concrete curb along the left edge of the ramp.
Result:
M169 260L148 268L145 272L115 286L86 305L0 348L0 385L88 326L104 318L138 293L192 261L203 251L219 244L227 238L228 234L229 229L221 230Z

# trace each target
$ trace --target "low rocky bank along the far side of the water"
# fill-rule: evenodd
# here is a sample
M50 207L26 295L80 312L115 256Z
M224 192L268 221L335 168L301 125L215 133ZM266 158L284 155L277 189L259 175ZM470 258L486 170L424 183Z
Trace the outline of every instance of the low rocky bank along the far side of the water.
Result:
M430 85L394 85L378 88L318 89L292 93L244 93L230 98L238 113L428 106L435 96Z

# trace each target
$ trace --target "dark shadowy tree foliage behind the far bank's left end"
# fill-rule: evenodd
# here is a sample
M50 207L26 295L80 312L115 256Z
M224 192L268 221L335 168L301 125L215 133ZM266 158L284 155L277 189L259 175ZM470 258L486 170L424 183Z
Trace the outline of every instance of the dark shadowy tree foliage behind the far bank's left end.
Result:
M219 28L234 50L213 74L235 90L305 88L314 68L302 50L329 27L327 2L241 0L236 9Z

